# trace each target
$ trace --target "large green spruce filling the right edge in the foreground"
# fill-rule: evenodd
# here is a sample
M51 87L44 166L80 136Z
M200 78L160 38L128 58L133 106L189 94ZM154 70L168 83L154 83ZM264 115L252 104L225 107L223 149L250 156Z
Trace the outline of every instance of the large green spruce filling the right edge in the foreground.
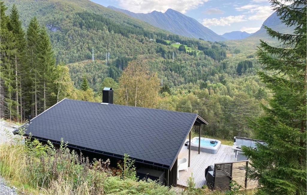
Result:
M251 122L251 128L267 144L243 151L251 160L249 177L259 182L257 194L306 194L306 1L271 3L282 22L295 30L282 34L265 27L285 47L260 43L259 61L266 71L278 73L258 72L274 95L263 106L266 115Z

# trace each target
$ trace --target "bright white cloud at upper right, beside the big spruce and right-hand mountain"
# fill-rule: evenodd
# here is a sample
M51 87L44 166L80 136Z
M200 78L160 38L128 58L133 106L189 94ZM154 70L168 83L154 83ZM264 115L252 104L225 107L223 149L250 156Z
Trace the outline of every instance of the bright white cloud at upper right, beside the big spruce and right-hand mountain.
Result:
M245 5L235 8L237 11L247 11L250 14L248 17L249 20L265 20L269 17L273 11L270 6L259 6L255 4Z

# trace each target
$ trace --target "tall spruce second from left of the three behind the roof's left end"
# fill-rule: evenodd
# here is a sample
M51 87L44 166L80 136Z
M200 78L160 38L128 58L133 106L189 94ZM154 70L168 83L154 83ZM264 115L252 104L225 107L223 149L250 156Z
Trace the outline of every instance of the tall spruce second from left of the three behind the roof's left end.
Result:
M39 89L39 66L38 66L38 58L37 58L37 47L39 40L40 26L38 24L37 18L34 16L28 26L27 29L27 59L28 59L28 67L27 67L27 77L31 78L31 83L29 84L32 90L31 99L28 102L31 102L32 114L37 116L37 106L38 106L38 91Z

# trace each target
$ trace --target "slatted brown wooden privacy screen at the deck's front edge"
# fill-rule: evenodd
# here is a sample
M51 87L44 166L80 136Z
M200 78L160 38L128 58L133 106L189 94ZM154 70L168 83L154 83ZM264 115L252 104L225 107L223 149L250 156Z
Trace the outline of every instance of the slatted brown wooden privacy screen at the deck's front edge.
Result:
M230 189L230 181L235 181L243 189L252 189L258 186L256 180L247 178L246 167L250 164L248 160L237 162L224 162L214 164L213 177L209 177L207 185L212 190Z

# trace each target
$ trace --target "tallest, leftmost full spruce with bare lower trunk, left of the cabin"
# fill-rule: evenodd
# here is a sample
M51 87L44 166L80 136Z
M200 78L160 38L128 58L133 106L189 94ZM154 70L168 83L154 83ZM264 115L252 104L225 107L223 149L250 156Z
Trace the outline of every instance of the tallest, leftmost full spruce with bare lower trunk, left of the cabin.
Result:
M21 28L21 21L17 7L14 4L10 13L9 30L13 33L14 42L14 77L15 77L15 101L16 101L16 118L19 122L21 117L22 122L22 98L21 98L21 71L23 70L24 55L25 55L25 32ZM20 101L19 101L20 97ZM19 102L18 102L19 101ZM19 114L20 107L20 114Z

